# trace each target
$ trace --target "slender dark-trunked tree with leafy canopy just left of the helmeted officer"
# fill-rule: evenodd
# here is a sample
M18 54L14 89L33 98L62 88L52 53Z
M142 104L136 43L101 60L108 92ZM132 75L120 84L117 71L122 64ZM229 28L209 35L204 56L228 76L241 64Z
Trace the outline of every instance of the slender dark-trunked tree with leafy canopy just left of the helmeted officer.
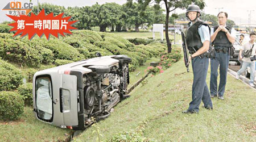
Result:
M138 2L143 3L143 5L148 5L151 1L154 1L158 4L160 4L160 2L162 1L164 2L164 5L166 6L166 27L168 27L169 25L169 14L171 11L174 11L177 8L187 9L188 5L191 5L192 3L198 5L201 9L203 9L203 7L205 6L204 0L138 0ZM170 42L168 32L166 32L166 42L168 53L170 53L172 51L172 44Z

